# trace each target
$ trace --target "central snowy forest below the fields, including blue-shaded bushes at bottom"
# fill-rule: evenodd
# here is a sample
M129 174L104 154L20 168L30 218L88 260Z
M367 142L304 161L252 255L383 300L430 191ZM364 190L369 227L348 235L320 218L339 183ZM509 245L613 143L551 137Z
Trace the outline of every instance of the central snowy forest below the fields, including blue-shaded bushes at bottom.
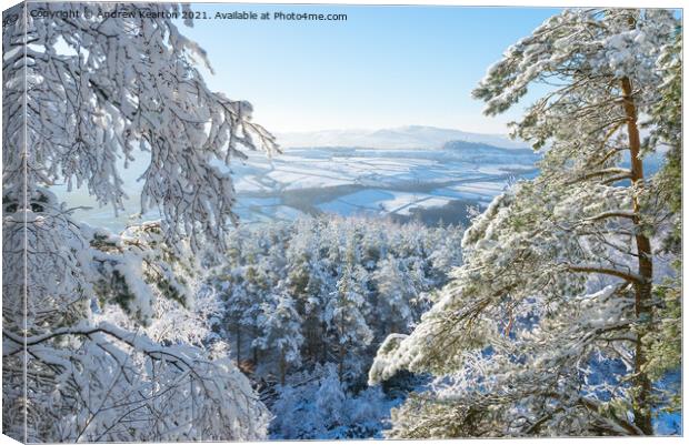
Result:
M408 314L399 322L405 332L418 322L429 291L443 284L459 261L450 246L462 232L324 215L238 226L228 237L224 262L208 279L221 295L221 322L213 326L243 351L240 368L276 414L271 437L380 432L391 394L399 392L365 388L362 371L398 313ZM392 284L382 292L378 284L388 273ZM398 284L401 300L388 299Z

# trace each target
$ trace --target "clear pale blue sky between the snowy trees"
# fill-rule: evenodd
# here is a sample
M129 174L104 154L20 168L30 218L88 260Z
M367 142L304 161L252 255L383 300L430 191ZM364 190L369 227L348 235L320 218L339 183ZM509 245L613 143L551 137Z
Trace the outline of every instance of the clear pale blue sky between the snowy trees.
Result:
M198 20L213 90L249 100L272 131L407 124L505 133L520 108L481 114L471 89L545 8L192 4L193 10L346 13L347 21ZM181 23L180 23L181 24ZM527 97L528 99L528 97Z

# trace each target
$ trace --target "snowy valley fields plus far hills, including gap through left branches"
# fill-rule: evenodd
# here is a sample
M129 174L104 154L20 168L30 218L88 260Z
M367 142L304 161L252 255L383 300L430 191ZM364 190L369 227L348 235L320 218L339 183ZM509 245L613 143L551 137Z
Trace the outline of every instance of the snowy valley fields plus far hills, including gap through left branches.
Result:
M341 138L340 144L337 138ZM466 214L461 209L486 205L510 179L535 174L538 160L529 149L499 136L423 127L358 135L351 131L319 132L310 139L306 133L294 133L283 139L283 153L271 159L249 153L248 161L236 161L232 166L238 192L236 212L242 223L320 213L461 222ZM308 141L330 145L291 146ZM395 148L396 143L399 148ZM70 205L91 209L78 210L77 218L96 226L123 229L130 215L139 211L133 196L141 190L137 179L148 162L143 158L122 170L132 196L124 212L113 216L112 209L98 209L78 190L67 195ZM58 193L66 191L63 186L56 189ZM154 218L156 212L144 215Z

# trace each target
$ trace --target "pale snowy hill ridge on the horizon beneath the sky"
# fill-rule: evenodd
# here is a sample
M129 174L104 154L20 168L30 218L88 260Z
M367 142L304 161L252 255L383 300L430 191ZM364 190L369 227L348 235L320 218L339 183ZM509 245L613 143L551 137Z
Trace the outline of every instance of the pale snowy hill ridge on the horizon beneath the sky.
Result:
M284 148L353 146L370 149L437 150L450 141L490 144L503 149L522 149L525 142L512 141L501 134L472 133L436 127L407 125L381 130L323 130L314 132L277 133Z

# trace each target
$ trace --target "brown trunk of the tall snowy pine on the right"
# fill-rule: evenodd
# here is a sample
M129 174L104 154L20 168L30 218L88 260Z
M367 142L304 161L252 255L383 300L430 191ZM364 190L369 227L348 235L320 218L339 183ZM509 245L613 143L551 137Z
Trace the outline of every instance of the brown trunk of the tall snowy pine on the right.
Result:
M639 128L637 125L637 109L633 102L633 90L629 78L622 78L622 99L625 114L627 117L627 132L629 135L629 154L631 162L631 183L636 186L643 186L643 162L639 158L641 141ZM651 424L650 392L651 383L643 367L648 362L642 346L642 338L651 322L651 291L653 277L653 262L651 256L651 242L642 232L640 206L638 198L632 199L633 224L636 230L636 244L638 256L638 273L642 281L635 285L635 312L639 321L638 337L635 357L635 380L633 380L633 416L635 424L645 434L653 434Z

